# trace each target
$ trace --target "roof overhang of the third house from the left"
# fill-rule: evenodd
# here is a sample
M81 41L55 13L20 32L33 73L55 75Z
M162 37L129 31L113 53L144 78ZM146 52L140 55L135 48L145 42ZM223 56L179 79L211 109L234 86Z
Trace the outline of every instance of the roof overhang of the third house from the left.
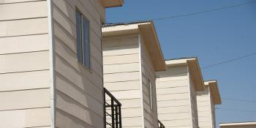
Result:
M204 90L203 76L197 58L167 59L167 67L188 66L192 81L197 91Z

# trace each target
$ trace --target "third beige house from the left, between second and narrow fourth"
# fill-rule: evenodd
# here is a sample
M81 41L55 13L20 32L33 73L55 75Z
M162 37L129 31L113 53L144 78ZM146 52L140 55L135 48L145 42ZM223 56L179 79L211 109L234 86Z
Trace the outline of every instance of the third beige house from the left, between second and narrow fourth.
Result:
M165 127L197 128L197 91L203 77L197 58L169 59L166 71L157 72L157 107Z

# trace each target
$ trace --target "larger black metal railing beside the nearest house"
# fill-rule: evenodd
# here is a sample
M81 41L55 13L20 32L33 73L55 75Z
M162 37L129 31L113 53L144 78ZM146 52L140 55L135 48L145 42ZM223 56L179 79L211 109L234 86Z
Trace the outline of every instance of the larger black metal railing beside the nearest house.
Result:
M104 88L105 128L121 128L121 103Z

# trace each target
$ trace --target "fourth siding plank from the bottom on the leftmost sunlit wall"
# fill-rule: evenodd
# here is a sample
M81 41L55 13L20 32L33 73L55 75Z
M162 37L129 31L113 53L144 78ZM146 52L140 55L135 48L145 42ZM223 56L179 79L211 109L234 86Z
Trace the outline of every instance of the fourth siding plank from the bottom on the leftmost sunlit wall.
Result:
M49 52L0 55L0 73L49 69Z

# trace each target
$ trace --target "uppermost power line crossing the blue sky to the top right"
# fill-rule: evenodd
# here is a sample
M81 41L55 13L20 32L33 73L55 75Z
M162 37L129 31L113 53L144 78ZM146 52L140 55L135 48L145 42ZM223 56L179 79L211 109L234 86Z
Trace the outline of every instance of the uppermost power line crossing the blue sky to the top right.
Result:
M235 8L235 7L241 7L241 6L244 6L244 5L255 4L255 3L256 3L256 1L252 1L252 2L247 2L247 3L244 3L244 4L236 4L236 5L229 6L229 7L219 7L219 8L212 9L212 10L205 10L205 11L201 11L201 12L192 12L192 13L188 13L188 14L184 14L184 15L173 15L173 16L165 17L165 18L153 18L151 20L165 20L165 19L170 19L170 18L181 18L181 17L187 17L187 16L191 16L191 15L203 14L203 13L206 13L206 12L227 10L227 9L231 9L231 8Z

